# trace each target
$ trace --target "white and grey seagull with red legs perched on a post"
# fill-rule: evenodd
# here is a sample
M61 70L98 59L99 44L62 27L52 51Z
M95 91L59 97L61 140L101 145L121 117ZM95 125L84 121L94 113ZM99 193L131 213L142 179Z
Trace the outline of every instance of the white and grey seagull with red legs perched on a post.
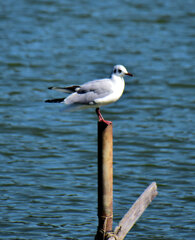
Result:
M96 108L99 122L107 125L110 121L104 120L100 107L116 102L123 94L125 88L124 76L133 76L123 65L115 65L110 78L97 79L82 85L73 85L69 87L49 87L50 90L70 93L66 98L49 99L47 103L63 103L65 110L74 111L89 107Z

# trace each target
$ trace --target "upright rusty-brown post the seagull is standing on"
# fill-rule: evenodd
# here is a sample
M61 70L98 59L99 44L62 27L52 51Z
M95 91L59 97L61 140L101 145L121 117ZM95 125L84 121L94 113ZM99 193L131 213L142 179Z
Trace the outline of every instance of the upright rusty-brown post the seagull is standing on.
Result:
M113 133L112 123L98 122L98 218L95 239L104 240L113 223Z

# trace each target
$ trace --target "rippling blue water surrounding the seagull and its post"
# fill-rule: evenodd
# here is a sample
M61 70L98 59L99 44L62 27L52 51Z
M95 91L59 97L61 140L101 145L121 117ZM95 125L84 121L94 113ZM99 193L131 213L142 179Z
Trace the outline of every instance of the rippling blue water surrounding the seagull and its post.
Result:
M93 239L97 118L61 113L49 86L124 64L114 125L114 226L152 182L159 195L126 239L194 239L193 1L0 3L0 239Z

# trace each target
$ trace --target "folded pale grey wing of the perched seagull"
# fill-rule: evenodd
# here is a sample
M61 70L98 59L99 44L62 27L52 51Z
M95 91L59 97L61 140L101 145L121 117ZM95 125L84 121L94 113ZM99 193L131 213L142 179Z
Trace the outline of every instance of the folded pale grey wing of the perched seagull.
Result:
M112 93L110 79L94 80L81 85L80 89L65 99L66 104L95 104L95 100Z

